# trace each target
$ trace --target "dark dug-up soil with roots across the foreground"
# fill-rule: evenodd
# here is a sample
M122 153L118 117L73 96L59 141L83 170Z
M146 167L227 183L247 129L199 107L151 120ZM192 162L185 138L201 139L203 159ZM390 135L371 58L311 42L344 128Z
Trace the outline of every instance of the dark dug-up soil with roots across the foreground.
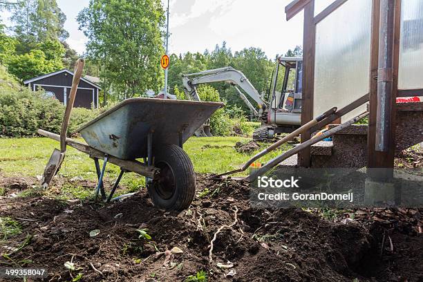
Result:
M35 181L3 177L1 185L10 193ZM185 281L200 270L209 281L423 281L423 209L360 209L326 220L295 207L254 209L239 180L199 175L197 189L203 197L180 213L153 207L145 189L109 205L6 195L0 216L15 218L22 232L0 241L9 254L0 266L44 267L43 281L79 273L80 281ZM140 228L151 240L138 238Z

